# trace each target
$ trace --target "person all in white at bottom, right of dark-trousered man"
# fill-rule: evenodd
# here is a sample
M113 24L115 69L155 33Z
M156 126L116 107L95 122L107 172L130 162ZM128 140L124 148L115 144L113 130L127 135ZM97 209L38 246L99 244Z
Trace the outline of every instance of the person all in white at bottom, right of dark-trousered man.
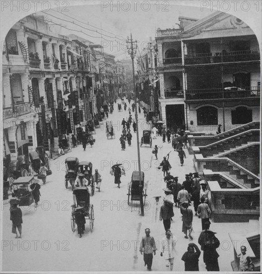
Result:
M166 231L166 237L162 240L162 249L160 256L164 254L164 258L167 260L166 267L170 267L170 271L173 271L174 258L175 258L175 247L177 238L173 236L170 230Z

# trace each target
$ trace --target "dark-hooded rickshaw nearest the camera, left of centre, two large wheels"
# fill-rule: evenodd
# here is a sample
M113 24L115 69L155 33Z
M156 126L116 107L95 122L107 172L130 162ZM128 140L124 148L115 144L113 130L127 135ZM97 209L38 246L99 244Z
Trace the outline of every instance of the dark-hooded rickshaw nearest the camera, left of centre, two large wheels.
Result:
M71 229L74 232L76 223L75 223L75 208L77 206L83 207L82 211L84 212L84 216L86 220L90 220L90 231L93 231L94 227L94 208L93 205L90 204L90 194L88 192L88 188L84 186L76 187L73 191L73 199L74 204L71 205L72 213L71 213Z

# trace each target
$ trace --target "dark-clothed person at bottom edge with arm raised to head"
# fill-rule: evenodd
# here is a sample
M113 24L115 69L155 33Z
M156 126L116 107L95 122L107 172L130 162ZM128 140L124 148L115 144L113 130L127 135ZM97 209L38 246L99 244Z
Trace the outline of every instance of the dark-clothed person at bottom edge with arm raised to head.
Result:
M201 251L196 244L188 244L188 251L181 258L185 262L185 271L199 271L198 261L200 254Z

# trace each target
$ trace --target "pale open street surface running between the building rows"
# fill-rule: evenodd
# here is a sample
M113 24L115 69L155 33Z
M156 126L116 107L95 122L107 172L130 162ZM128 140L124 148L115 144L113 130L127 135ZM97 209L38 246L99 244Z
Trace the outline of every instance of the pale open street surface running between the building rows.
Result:
M118 100L120 102L120 100ZM131 102L132 104L132 102ZM139 252L139 245L145 228L150 228L151 236L155 238L158 251L153 259L152 271L168 271L164 257L160 257L162 238L165 236L163 223L159 221L159 209L154 196L163 196L165 187L163 172L158 170L159 161L168 152L172 165L171 174L179 176L182 183L185 174L194 172L193 156L186 149L185 164L181 167L177 152L170 143L163 143L162 137L153 139L152 148L144 144L140 148L141 166L145 172L147 183L147 199L145 203L145 216L140 216L139 203L134 202L132 211L127 204L127 184L137 163L136 134L132 133L132 145L126 145L122 151L119 137L121 135L121 121L128 118L128 111L118 112L114 104L114 112L109 115L115 130L115 138L107 139L105 120L101 128L96 129L93 147L87 146L83 151L82 145L73 148L72 152L51 160L52 175L47 176L45 185L40 181L40 202L37 208L33 204L21 207L23 214L22 239L14 239L11 234L11 221L9 220L9 204L4 201L2 222L3 270L4 271L146 271L143 256ZM132 118L135 114L132 113ZM139 114L139 137L142 131L149 129L143 113ZM132 128L132 127L131 127ZM152 149L158 144L158 158L152 154ZM94 230L91 233L89 220L85 224L85 232L80 239L77 230L72 233L70 226L71 205L73 195L71 186L65 189L64 175L66 157L75 156L79 161L86 160L93 163L93 172L97 168L102 175L101 191L95 190L90 203L94 206ZM121 177L120 189L114 184L114 177L110 175L110 167L123 163L126 176ZM9 195L9 199L11 195ZM193 209L193 205L191 206ZM194 209L193 209L194 210ZM182 221L179 209L174 207L175 216L171 223L171 231L178 238L174 271L184 271L182 255L187 251L188 243L197 244L201 232L201 219L194 216L193 241L184 238ZM231 271L230 262L234 259L234 248L230 242L229 232L247 233L248 223L212 223L212 230L217 232L221 247L219 264L221 271ZM224 244L223 244L224 243ZM206 271L203 263L203 254L199 262L200 271Z

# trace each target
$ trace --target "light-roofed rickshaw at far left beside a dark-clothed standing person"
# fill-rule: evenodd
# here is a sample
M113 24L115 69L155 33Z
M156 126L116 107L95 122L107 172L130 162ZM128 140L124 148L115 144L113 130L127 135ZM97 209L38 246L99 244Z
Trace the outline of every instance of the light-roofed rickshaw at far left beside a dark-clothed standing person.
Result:
M13 181L13 186L16 188L12 192L12 197L16 199L11 199L10 204L12 205L13 201L18 200L19 206L29 206L33 203L32 192L28 189L28 184L32 183L34 176L25 176L19 177Z

